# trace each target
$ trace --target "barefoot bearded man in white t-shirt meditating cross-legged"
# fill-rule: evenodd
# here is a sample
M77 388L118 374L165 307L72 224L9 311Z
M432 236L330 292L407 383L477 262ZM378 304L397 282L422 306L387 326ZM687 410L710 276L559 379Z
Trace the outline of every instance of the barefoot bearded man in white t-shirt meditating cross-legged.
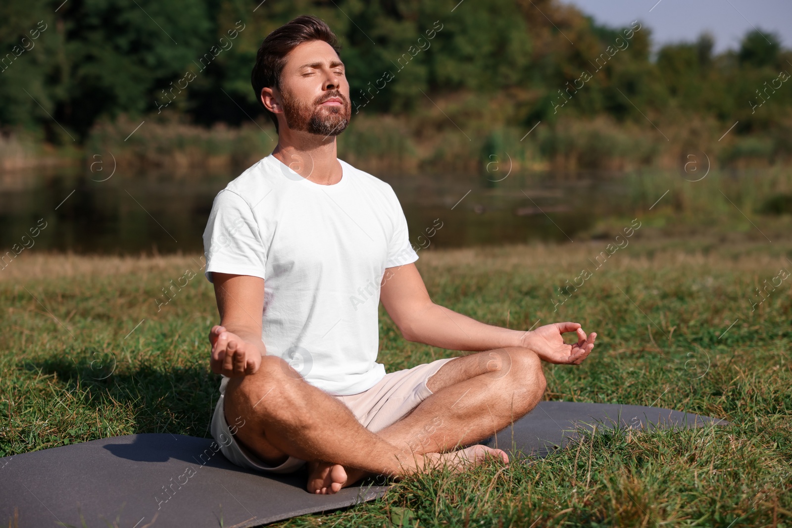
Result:
M476 443L539 402L540 359L579 364L596 334L571 322L503 329L432 303L393 189L336 158L351 115L339 49L323 21L303 16L258 51L253 89L278 144L218 193L204 232L221 318L210 363L223 374L211 434L243 467L307 462L311 493L371 474L508 463ZM479 353L386 374L379 301L406 340Z

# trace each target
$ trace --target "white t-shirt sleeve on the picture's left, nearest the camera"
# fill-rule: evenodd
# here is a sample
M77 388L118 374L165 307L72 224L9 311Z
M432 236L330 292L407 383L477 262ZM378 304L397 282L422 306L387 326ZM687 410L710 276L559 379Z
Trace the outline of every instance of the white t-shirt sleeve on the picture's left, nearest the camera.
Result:
M212 272L253 275L266 279L267 251L249 204L233 191L223 189L212 203L204 230L204 275Z

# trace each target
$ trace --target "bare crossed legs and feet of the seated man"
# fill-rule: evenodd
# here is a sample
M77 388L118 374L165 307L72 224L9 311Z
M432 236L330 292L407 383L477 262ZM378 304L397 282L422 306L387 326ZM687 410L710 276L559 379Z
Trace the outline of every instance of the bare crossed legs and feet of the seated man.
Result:
M402 477L430 462L460 469L487 456L508 462L503 451L480 445L462 456L444 453L519 420L541 399L545 379L533 351L499 348L451 359L427 386L432 395L375 433L283 359L265 356L257 374L230 379L225 412L244 418L234 436L257 457L272 465L289 455L310 461L307 490L334 493L367 474Z

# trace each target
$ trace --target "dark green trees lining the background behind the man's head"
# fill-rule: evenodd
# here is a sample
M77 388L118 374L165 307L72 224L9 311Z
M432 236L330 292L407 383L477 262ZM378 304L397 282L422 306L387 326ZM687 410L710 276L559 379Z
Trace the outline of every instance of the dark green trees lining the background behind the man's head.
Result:
M249 82L257 48L272 29L313 13L341 41L353 112L409 118L427 131L411 131L413 139L456 127L485 138L538 121L557 131L562 116L619 127L647 127L649 118L661 129L695 116L721 131L739 120L727 142L758 133L774 138L771 160L792 153L784 139L792 92L771 88L779 70L790 70L792 53L761 29L748 32L739 51L713 55L705 33L661 47L653 59L651 31L640 21L599 25L558 0L463 2L453 11L446 2L417 1L60 3L0 6L6 132L43 130L48 142L81 144L96 123L159 116L165 104L206 127L265 121ZM22 37L39 23L46 30L20 53ZM235 27L244 29L213 53ZM194 78L185 86L188 73ZM581 83L584 73L590 78ZM760 101L766 104L756 107ZM430 116L437 108L445 114L438 112L440 120ZM735 148L736 158L723 159L738 159L742 150Z

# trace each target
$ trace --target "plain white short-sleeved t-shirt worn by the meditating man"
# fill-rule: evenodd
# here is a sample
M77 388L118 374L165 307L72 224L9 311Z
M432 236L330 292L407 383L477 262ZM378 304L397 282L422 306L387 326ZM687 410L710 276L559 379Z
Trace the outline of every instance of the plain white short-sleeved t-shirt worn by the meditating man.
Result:
M390 184L338 161L343 176L333 185L303 178L272 154L230 181L204 230L204 275L265 279L267 355L319 389L348 395L385 375L376 363L380 283L386 268L418 255Z

